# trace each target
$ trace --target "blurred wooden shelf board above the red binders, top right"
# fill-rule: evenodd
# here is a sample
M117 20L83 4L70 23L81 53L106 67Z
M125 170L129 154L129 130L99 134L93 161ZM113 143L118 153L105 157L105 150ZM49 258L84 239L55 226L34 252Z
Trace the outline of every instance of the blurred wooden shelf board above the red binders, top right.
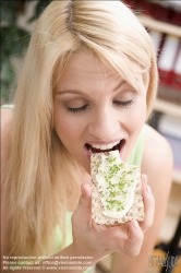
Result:
M137 15L137 17L145 27L152 28L153 31L170 34L170 35L181 38L180 26L160 22L147 15Z

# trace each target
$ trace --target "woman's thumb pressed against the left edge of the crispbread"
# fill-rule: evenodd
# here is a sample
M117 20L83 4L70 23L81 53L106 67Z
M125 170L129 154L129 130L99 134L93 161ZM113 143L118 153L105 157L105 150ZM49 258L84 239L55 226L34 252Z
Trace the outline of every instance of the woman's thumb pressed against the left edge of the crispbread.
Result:
M77 207L72 215L72 224L73 226L80 227L86 227L89 224L90 221L90 206L92 206L92 201L90 201L90 194L92 194L92 189L88 183L82 183L81 185L81 191L82 195L80 198Z

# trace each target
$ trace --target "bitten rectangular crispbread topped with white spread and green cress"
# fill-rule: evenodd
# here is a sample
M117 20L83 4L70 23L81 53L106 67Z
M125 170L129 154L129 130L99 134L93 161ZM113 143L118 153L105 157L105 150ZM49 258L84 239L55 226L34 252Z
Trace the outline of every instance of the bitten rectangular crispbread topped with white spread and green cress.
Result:
M92 153L90 169L92 217L97 224L117 225L132 219L144 221L141 171L137 166L123 164L119 151L111 151ZM112 189L117 189L116 192ZM120 201L121 197L126 202Z

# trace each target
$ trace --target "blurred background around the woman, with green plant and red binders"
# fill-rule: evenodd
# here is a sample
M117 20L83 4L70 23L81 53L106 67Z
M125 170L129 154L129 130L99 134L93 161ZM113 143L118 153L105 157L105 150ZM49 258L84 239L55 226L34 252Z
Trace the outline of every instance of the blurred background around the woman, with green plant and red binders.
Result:
M13 102L31 33L36 19L50 1L1 0L1 105ZM124 2L136 13L149 33L157 55L159 88L148 123L167 138L174 161L167 215L157 242L169 246L177 235L178 242L174 241L174 245L179 248L181 227L178 234L177 227L181 213L181 1ZM97 273L110 272L110 263L111 257L100 262ZM179 264L179 268L173 268L173 273L181 273L181 261ZM148 272L153 273L160 270L159 266L148 268Z

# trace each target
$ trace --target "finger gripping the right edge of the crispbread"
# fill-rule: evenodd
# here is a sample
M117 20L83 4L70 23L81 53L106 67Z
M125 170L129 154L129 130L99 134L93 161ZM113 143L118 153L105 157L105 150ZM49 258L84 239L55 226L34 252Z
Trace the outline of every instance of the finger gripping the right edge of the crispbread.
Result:
M145 219L144 222L140 222L140 226L145 233L152 225L154 221L154 212L155 212L155 199L152 193L150 187L147 185L147 176L142 175L143 182L143 201L145 206Z

